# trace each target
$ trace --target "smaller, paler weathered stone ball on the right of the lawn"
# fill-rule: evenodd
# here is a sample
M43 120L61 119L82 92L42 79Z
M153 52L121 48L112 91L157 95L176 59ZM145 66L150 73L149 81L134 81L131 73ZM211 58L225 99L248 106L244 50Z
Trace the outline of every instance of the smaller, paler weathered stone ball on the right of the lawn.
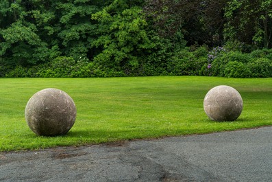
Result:
M210 120L218 122L234 121L242 113L243 100L236 89L220 85L208 91L203 106Z

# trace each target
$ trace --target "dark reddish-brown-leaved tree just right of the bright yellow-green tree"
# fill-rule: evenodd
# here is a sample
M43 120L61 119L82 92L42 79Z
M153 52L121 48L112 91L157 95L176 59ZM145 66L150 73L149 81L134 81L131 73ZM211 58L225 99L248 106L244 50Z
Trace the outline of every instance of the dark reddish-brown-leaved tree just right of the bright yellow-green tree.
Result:
M173 37L181 32L188 45L206 43L215 46L222 42L226 1L146 0L144 10L161 36Z

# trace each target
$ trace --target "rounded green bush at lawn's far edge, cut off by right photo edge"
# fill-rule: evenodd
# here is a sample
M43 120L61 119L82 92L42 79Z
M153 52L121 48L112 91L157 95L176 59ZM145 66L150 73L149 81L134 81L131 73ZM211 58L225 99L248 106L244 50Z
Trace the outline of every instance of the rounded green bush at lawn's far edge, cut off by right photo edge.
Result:
M249 64L252 77L267 78L272 76L272 62L268 58L258 58Z

